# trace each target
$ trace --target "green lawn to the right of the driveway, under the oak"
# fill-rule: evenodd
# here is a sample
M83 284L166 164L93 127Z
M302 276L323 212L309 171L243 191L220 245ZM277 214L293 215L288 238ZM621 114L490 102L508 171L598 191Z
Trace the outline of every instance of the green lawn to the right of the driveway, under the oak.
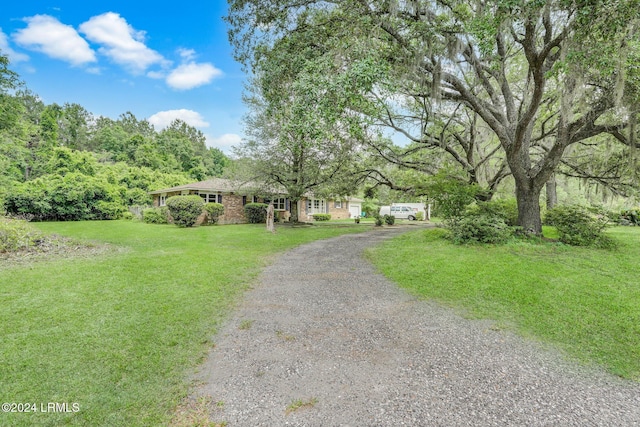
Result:
M614 251L525 242L456 246L441 231L402 235L368 256L417 295L640 380L640 228L608 231L620 244Z

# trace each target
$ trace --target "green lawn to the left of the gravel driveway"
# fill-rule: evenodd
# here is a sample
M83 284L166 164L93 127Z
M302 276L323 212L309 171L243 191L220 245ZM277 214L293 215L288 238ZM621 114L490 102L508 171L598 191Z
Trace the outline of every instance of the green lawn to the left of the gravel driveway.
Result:
M108 243L90 258L0 268L2 402L77 403L75 413L0 413L12 426L169 424L185 378L271 255L358 227L178 228L132 221L40 223Z

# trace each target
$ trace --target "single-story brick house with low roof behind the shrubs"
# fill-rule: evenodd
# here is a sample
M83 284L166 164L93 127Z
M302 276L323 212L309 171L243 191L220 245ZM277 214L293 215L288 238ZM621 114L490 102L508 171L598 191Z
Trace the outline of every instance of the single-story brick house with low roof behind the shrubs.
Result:
M178 185L151 191L154 206L164 206L171 196L186 196L196 194L205 202L220 203L224 206L224 215L219 218L220 224L240 224L247 222L244 216L244 205L252 202L272 202L275 212L281 220L288 221L291 216L291 201L286 194L271 198L271 200L255 196L254 190L248 185L238 182L213 178L191 184ZM328 213L332 219L346 219L359 216L362 212L362 199L355 197L323 199L313 196L304 197L298 201L298 219L312 221L313 214Z

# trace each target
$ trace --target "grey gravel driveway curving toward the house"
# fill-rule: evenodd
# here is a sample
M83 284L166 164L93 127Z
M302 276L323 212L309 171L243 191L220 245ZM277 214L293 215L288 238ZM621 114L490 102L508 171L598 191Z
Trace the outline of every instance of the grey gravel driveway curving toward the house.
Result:
M195 393L228 426L636 426L640 385L489 321L417 300L362 251L406 229L317 241L264 270ZM428 260L426 261L428 262Z

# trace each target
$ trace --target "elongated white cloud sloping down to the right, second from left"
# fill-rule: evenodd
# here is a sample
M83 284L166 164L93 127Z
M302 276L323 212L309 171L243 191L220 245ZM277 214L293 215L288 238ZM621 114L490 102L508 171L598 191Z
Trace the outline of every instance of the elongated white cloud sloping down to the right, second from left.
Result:
M145 32L136 31L117 13L94 16L80 25L80 31L103 46L100 53L133 73L142 73L154 64L169 65L162 55L144 44Z

